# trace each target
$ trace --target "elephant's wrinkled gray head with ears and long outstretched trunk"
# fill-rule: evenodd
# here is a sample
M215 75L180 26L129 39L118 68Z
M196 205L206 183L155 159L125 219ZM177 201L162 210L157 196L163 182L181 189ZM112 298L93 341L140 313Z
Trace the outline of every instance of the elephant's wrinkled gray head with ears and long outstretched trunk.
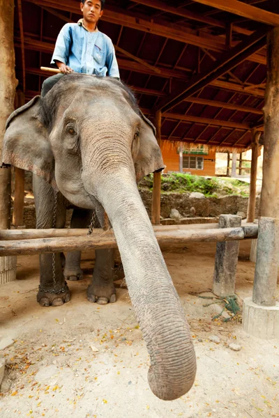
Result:
M136 184L163 162L133 97L116 80L67 75L7 126L4 163L43 177L75 206L95 209L101 225L105 210L149 350L151 390L164 400L186 394L195 379L193 343Z

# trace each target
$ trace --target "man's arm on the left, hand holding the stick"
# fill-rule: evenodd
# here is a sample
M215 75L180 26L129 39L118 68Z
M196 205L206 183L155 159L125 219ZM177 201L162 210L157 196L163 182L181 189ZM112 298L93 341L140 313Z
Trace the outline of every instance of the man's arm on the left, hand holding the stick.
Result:
M70 54L70 43L70 24L66 24L63 26L56 39L51 61L51 65L56 65L64 74L73 72L72 68L67 65Z

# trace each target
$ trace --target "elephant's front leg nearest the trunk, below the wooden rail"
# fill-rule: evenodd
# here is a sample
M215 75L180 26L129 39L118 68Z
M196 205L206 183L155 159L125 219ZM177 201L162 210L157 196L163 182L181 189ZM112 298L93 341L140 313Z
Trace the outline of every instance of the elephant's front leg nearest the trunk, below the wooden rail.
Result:
M98 249L91 284L87 288L90 302L107 304L116 302L114 288L114 249Z

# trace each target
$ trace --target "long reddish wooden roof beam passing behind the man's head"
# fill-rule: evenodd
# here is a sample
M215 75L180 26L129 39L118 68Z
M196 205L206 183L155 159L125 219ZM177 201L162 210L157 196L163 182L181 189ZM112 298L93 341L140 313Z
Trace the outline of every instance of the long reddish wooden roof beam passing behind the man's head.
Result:
M30 3L35 3L37 6L52 7L59 10L72 11L73 13L80 13L79 4L73 0L27 0ZM170 26L169 22L165 24L158 24L146 18L139 17L135 13L123 13L121 8L106 7L105 13L102 17L105 22L111 22L119 24L120 26L126 26L138 31L144 31L147 33L153 33L154 35L163 36L163 38L169 38L178 40L179 42L185 42L190 45L202 47L205 49L211 49L216 52L226 52L227 46L225 45L225 39L218 36L212 36L209 33L204 36L197 36L196 31L188 29L185 26ZM250 61L262 63L265 58L259 54L251 54ZM265 61L264 61L265 62Z

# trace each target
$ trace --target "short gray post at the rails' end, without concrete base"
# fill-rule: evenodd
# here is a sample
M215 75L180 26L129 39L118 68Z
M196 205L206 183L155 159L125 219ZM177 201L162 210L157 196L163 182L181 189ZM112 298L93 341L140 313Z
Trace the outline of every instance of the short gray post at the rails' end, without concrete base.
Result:
M239 228L241 217L220 215L219 228ZM232 296L235 290L236 265L239 258L239 241L218 242L216 245L213 293L220 297Z

